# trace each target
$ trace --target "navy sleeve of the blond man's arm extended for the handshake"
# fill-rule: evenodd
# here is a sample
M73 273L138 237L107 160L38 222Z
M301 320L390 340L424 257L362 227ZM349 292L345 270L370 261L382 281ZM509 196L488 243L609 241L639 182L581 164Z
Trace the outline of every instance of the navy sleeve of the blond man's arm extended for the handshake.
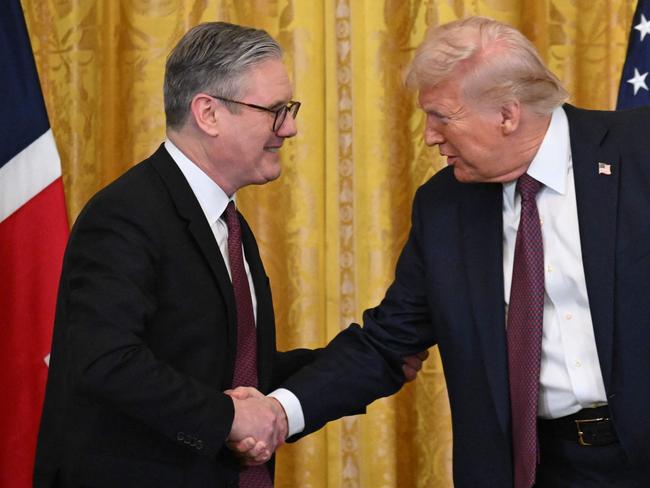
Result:
M302 405L302 435L395 393L405 381L402 358L435 343L422 248L416 197L409 239L380 305L364 313L363 328L352 324L339 333L317 361L283 385Z

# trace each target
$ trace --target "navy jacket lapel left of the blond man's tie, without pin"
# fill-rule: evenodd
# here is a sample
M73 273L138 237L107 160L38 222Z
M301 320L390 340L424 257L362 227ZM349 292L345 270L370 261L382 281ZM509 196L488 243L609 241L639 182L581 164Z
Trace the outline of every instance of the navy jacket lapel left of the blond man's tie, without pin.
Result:
M460 221L474 323L499 424L504 435L509 435L502 186L467 185L465 190L468 196L461 205Z

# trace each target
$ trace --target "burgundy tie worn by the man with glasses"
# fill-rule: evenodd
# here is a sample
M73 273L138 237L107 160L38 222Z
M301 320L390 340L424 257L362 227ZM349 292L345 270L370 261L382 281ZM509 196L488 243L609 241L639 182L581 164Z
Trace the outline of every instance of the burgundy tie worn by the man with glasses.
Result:
M237 386L257 388L257 329L242 255L241 227L232 201L228 203L224 217L228 226L228 258L237 303L237 353L232 386L233 388ZM239 474L239 486L240 488L271 488L273 481L266 465L249 466Z

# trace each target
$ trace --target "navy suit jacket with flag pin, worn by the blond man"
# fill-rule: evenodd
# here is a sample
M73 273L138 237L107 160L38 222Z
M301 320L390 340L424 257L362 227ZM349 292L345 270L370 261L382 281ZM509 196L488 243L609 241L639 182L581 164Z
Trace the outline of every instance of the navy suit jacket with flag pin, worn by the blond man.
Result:
M598 357L631 462L650 462L650 110L566 106L581 247ZM598 174L598 163L611 175ZM502 185L452 169L417 192L412 229L382 303L286 383L305 433L392 394L399 358L438 344L461 487L512 485L502 265Z

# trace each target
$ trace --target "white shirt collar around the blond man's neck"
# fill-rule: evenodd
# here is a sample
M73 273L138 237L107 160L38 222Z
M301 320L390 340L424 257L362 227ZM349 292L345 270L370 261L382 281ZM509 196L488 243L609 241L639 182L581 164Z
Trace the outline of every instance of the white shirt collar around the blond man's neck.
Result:
M571 166L569 121L564 109L557 107L553 110L551 123L546 130L542 144L526 173L545 187L564 195ZM513 206L516 183L517 180L503 184L504 195Z

